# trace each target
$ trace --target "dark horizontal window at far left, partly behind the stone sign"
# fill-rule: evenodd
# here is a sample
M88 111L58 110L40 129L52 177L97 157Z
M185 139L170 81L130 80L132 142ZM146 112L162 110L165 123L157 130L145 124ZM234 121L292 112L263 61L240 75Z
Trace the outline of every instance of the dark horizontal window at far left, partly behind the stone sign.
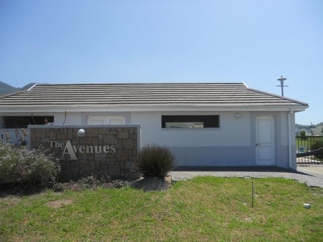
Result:
M28 125L44 125L45 119L47 123L54 122L54 116L4 116L4 128L27 128Z

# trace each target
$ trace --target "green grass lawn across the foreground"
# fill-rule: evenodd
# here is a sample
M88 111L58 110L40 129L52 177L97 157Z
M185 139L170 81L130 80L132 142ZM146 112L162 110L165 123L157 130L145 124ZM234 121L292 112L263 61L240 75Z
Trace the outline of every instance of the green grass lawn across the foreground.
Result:
M48 206L57 200L67 204ZM323 241L323 190L284 178L196 177L159 193L124 188L3 197L0 241L7 240Z

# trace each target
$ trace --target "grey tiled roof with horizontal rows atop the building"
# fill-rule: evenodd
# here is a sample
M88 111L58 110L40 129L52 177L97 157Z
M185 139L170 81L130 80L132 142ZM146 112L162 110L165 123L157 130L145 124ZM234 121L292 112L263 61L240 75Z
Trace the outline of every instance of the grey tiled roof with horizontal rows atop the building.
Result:
M307 106L244 83L38 84L0 97L1 107Z

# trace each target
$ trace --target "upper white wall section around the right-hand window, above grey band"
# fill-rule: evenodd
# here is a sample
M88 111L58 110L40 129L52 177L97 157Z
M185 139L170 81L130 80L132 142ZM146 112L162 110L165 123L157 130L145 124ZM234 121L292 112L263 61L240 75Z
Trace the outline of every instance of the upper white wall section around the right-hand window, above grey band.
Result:
M131 123L141 124L141 144L177 147L250 146L250 112L131 112ZM162 129L161 115L220 115L220 128Z

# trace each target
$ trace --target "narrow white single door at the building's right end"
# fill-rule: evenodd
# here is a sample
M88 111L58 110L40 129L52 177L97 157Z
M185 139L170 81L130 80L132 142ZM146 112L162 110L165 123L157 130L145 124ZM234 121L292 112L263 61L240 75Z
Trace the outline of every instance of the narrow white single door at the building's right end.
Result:
M275 116L256 117L256 164L275 165Z

